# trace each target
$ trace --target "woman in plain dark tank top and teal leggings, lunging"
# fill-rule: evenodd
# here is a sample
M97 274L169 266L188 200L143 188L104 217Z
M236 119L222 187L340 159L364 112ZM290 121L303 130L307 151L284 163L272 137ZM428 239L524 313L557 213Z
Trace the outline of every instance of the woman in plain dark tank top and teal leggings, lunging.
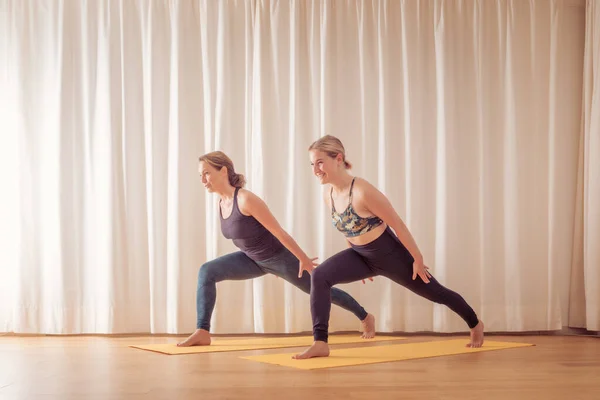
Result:
M240 249L206 262L198 273L196 289L196 331L178 346L210 344L210 319L217 297L216 284L273 274L310 294L310 273L316 258L309 258L296 241L279 225L264 201L243 189L245 179L221 151L200 157L202 184L219 195L221 232ZM304 273L304 272L307 273ZM331 301L362 322L363 338L375 336L375 318L348 293L333 288Z

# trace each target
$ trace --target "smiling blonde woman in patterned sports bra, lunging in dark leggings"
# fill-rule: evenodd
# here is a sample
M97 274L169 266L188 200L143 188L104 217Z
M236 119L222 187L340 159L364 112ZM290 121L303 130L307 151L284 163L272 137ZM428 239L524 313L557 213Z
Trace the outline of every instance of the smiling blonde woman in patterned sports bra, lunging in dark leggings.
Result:
M329 355L327 337L332 286L377 275L449 307L470 328L467 346L481 347L483 322L461 295L442 286L427 271L429 268L423 263L417 244L385 195L366 180L348 174L351 165L346 160L342 142L327 135L308 150L313 173L321 184L331 185L325 201L330 202L333 225L346 236L350 248L335 254L313 271L310 305L315 341L294 358ZM340 206L345 205L346 209L342 211Z

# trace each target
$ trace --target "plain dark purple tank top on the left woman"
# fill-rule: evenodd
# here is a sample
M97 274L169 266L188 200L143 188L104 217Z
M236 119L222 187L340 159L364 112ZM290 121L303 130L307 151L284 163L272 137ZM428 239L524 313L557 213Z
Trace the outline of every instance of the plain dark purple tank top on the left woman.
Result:
M285 247L256 218L240 212L237 203L239 190L240 188L235 188L233 208L229 217L223 218L221 206L219 205L221 232L227 239L233 240L233 244L254 261L268 260Z

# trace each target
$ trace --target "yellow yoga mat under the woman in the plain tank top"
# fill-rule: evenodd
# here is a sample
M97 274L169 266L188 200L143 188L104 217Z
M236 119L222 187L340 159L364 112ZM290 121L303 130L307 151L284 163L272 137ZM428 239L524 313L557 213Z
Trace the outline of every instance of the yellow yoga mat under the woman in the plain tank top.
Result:
M398 336L376 336L373 339L362 339L360 335L332 335L329 336L330 344L350 344L350 343L373 343L391 340L402 340ZM273 337L273 338L246 338L246 339L218 339L213 338L210 346L192 346L177 347L176 343L148 344L148 345L130 345L141 350L156 351L163 354L195 354L195 353L216 353L221 351L242 351L242 350L262 350L279 349L285 347L306 347L313 343L312 336L297 337Z

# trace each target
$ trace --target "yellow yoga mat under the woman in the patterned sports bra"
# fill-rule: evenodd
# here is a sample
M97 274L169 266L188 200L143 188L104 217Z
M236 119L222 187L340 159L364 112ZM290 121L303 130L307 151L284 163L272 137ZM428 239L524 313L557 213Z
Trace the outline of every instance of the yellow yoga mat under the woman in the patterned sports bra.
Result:
M455 339L439 342L406 343L388 346L339 349L331 350L329 357L318 357L308 360L292 359L292 355L297 353L267 354L262 356L249 356L240 358L298 369L321 369L347 367L351 365L377 364L401 360L414 360L417 358L450 356L455 354L480 353L483 351L533 346L533 344L529 343L494 342L490 340L485 341L483 347L471 349L465 347L466 343L467 340L465 339Z

